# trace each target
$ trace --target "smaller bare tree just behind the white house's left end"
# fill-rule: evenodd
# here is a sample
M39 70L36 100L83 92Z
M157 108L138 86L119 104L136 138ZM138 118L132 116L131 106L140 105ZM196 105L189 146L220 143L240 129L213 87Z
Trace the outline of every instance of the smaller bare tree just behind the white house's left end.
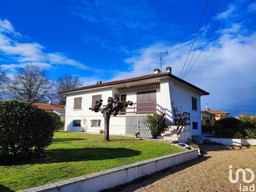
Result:
M57 92L78 88L82 85L83 83L79 80L79 77L72 76L69 74L65 74L64 76L58 77L55 81L55 88ZM58 95L58 100L60 104L66 104L65 95Z

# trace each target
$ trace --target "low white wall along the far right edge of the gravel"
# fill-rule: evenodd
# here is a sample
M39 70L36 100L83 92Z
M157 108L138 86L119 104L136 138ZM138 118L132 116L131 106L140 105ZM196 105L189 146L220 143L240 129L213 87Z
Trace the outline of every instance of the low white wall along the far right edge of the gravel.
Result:
M223 145L256 145L256 140L252 139L228 139L228 138L205 138L210 142L221 143Z

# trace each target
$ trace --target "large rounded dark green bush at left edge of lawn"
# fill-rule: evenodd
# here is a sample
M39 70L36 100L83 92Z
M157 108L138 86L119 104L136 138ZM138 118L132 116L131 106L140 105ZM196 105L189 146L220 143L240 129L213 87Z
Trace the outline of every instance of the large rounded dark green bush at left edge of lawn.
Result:
M17 100L0 102L0 163L41 157L51 145L54 120L49 113Z

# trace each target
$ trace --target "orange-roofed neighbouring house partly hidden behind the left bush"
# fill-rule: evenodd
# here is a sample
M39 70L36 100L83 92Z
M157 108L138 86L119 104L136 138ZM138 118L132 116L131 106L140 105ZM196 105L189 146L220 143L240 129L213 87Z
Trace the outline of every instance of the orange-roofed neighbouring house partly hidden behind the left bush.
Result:
M44 109L47 111L52 111L57 113L61 120L65 121L65 106L58 105L58 104L51 104L49 101L48 103L45 102L30 102L31 104L37 106L39 109Z

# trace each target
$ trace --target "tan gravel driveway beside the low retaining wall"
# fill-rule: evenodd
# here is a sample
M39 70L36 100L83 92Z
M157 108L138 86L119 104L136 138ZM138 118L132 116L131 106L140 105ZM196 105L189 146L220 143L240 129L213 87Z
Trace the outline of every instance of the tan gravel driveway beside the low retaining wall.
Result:
M256 147L228 147L223 145L200 145L202 156L172 166L161 172L133 180L128 184L106 189L104 192L120 191L256 191ZM250 168L254 174L253 182L243 182L242 174L239 181L232 184L228 179L229 166L232 165L232 179L236 179L236 170ZM246 179L251 175L246 172ZM251 188L250 188L251 186Z

